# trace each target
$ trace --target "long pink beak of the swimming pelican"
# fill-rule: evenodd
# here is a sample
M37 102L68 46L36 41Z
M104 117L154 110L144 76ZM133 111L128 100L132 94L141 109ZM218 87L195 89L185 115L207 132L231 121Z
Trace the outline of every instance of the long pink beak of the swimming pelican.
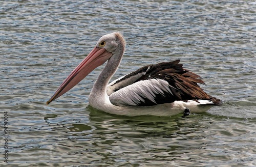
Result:
M63 81L54 95L46 102L49 104L59 96L68 92L71 88L76 86L83 78L85 78L95 68L105 63L112 57L112 53L106 51L105 48L95 47L85 59L69 74Z

